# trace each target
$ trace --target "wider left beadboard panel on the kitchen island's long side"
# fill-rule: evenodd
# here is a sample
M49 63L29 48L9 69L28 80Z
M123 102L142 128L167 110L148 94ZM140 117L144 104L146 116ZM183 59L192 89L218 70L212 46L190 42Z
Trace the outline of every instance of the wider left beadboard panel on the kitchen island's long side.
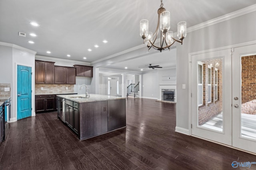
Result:
M108 131L108 101L80 103L78 138L87 139Z

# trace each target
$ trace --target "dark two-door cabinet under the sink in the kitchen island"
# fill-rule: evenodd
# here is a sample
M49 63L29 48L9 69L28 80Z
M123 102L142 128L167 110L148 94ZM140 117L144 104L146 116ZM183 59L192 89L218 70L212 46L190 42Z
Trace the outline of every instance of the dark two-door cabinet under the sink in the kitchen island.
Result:
M65 103L65 123L78 133L78 103L70 100L66 100Z

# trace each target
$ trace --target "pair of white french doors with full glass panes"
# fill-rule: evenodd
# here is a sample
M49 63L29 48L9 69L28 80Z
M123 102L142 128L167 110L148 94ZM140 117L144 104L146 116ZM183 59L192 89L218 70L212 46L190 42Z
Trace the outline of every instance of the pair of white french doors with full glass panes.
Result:
M256 45L191 56L192 135L256 153Z

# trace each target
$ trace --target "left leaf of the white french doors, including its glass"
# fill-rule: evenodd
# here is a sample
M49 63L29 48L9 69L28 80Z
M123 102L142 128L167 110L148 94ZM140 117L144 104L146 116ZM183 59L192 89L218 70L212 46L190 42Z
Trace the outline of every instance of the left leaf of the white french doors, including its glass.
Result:
M192 135L232 145L230 49L192 55Z

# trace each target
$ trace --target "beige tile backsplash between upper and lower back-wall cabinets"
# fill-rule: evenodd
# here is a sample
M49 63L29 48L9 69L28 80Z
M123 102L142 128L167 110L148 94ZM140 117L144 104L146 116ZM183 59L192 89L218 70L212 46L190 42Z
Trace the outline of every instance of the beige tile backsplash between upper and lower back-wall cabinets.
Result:
M35 94L65 93L74 93L74 84L35 84Z

